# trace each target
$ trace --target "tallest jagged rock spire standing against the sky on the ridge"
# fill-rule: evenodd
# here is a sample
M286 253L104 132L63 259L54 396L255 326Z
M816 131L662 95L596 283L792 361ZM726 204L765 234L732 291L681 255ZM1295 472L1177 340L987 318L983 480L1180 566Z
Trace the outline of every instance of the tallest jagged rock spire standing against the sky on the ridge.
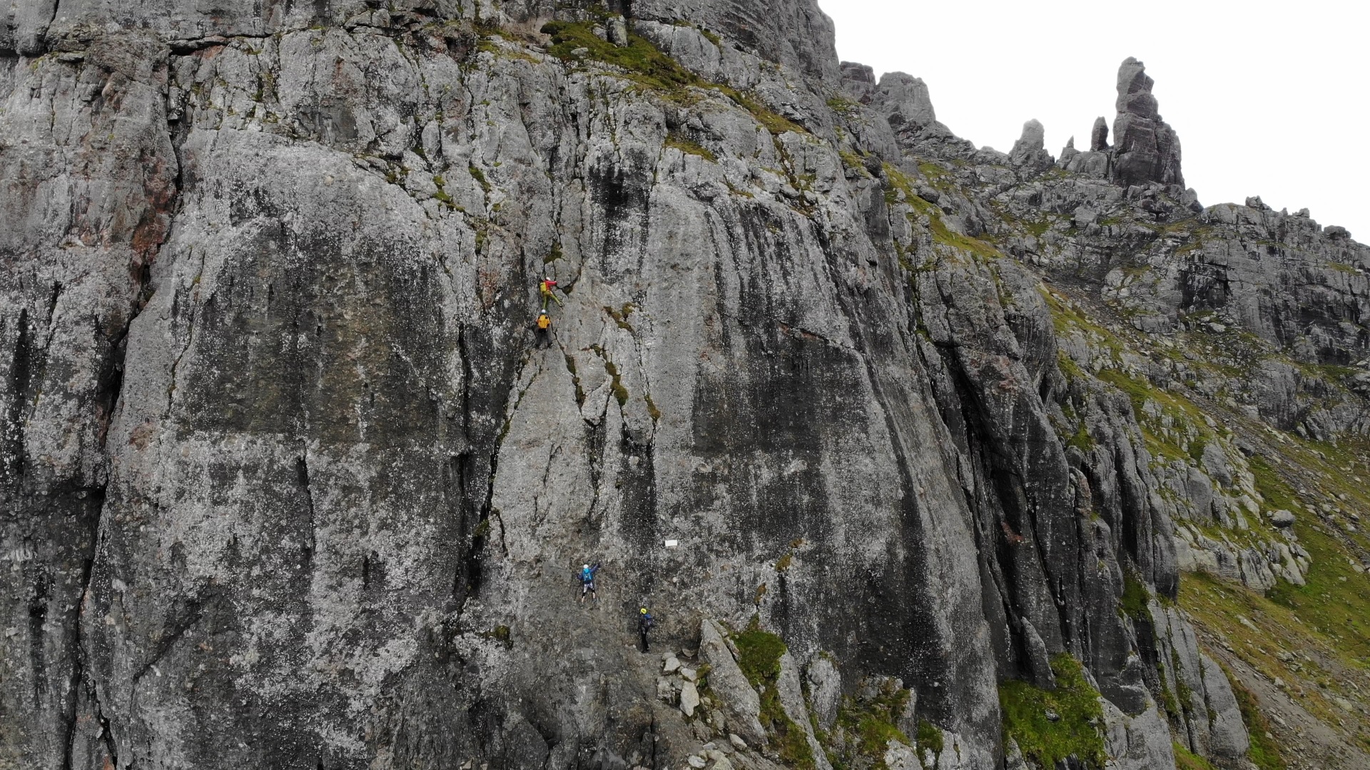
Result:
M1156 111L1156 97L1151 95L1154 82L1145 64L1130 56L1118 69L1117 145L1110 177L1119 185L1160 182L1182 188L1180 137ZM1107 136L1099 137L1097 123L1095 138L1107 142Z

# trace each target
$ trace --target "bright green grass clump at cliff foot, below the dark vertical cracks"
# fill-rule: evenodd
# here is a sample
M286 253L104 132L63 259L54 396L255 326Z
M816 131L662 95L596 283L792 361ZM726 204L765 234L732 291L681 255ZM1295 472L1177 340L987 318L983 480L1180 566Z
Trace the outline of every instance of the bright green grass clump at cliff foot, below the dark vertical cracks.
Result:
M1051 662L1056 689L1045 691L1012 680L999 686L1004 737L1018 741L1023 756L1040 767L1055 767L1074 756L1085 767L1103 770L1107 762L1099 692L1089 686L1080 662L1067 654ZM1052 721L1051 714L1058 719Z

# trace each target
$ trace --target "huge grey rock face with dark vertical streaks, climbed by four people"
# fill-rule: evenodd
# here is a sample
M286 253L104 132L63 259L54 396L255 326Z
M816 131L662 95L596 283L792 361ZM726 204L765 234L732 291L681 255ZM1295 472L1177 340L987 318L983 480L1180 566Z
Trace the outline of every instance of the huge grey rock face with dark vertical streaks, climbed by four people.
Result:
M1121 601L1307 554L1211 537L1260 521L1236 438L1154 456L1191 427L1044 280L1349 364L1365 247L1197 207L1133 60L1114 148L1058 171L1038 123L978 151L814 3L758 8L7 11L0 766L822 767L897 681L941 738L880 758L995 767L997 685L1064 655L1122 766L1240 756L1188 621ZM1259 418L1365 430L1295 363ZM697 686L634 648L644 604Z

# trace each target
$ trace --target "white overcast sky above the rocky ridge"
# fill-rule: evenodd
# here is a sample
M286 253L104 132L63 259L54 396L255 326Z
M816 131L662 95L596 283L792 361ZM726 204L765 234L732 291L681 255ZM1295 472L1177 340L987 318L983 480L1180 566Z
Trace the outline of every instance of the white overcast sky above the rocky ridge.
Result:
M1370 3L819 0L837 52L923 78L937 119L1007 152L1036 118L1047 149L1088 149L1136 56L1204 206L1259 195L1370 243ZM1110 140L1112 137L1110 136Z

